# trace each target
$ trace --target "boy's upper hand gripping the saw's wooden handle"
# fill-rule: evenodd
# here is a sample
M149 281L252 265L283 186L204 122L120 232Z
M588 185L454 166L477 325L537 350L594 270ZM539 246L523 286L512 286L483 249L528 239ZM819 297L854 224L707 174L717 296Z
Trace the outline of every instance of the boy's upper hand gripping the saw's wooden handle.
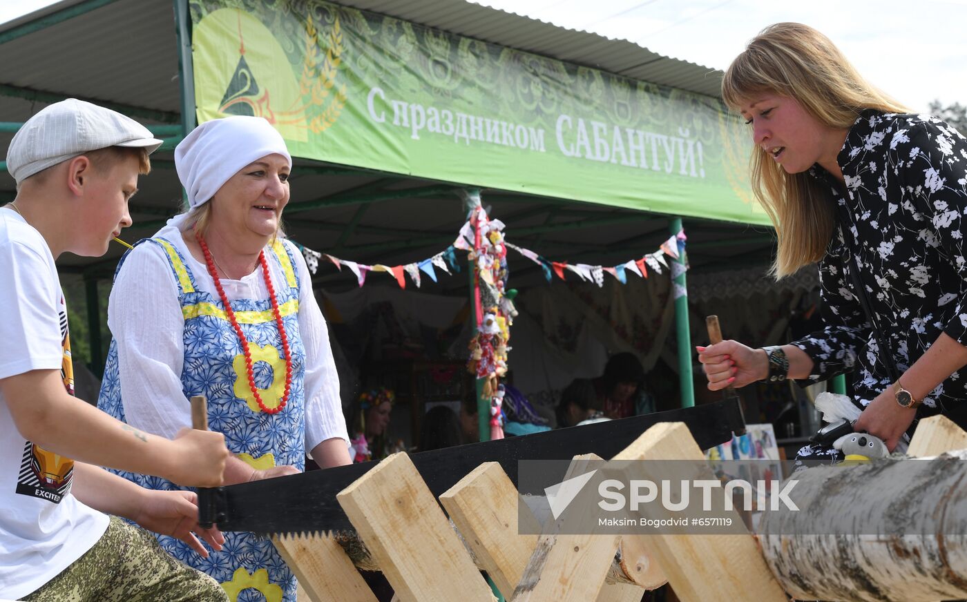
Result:
M221 433L183 428L171 442L168 480L186 487L220 487L228 448Z

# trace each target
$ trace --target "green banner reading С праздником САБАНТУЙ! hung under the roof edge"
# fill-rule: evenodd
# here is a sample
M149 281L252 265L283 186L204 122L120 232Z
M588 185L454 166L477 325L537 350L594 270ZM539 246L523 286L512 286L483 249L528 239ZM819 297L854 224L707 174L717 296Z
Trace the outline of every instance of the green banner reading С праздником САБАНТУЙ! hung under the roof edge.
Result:
M192 0L199 123L259 115L299 157L668 215L768 223L721 102L319 0Z

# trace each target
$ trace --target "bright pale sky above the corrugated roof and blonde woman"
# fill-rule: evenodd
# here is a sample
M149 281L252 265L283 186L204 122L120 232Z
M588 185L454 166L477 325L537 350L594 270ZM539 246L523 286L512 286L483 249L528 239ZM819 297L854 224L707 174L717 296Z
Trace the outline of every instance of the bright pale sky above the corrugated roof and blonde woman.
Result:
M157 1L157 0L155 0ZM386 0L398 2L399 0ZM916 111L967 103L967 0L479 0L555 25L725 69L763 27L823 32L874 85ZM0 22L50 0L0 0Z

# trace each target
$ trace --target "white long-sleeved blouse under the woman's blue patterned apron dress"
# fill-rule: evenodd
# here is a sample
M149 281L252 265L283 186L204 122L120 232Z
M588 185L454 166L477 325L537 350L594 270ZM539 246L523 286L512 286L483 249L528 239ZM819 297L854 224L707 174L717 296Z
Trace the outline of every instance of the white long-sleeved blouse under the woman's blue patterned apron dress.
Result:
M204 264L194 259L177 228L168 225L161 236L182 254L194 275L197 290L219 293ZM299 272L299 330L306 347L306 451L327 439L341 438L346 444L339 378L329 329L319 303L312 294L311 276L302 253L284 244L296 257ZM276 262L269 261L269 272L276 290L285 282ZM229 301L269 299L261 266L241 280L221 280ZM172 438L183 427L191 426L190 404L182 389L181 373L185 359L183 330L185 319L178 302L178 283L164 251L157 244L139 244L128 254L124 269L117 274L107 307L107 326L114 335L121 375L124 413L135 428Z

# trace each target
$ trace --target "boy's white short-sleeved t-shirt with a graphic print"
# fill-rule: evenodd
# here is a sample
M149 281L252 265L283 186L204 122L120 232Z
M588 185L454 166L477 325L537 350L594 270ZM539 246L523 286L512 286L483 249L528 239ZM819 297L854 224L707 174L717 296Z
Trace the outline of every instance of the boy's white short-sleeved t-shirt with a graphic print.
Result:
M67 305L54 258L41 233L10 209L0 209L0 307L0 379L61 370L73 392ZM71 494L73 460L20 436L8 404L31 400L0 393L0 401L0 598L17 599L90 550L109 519Z

